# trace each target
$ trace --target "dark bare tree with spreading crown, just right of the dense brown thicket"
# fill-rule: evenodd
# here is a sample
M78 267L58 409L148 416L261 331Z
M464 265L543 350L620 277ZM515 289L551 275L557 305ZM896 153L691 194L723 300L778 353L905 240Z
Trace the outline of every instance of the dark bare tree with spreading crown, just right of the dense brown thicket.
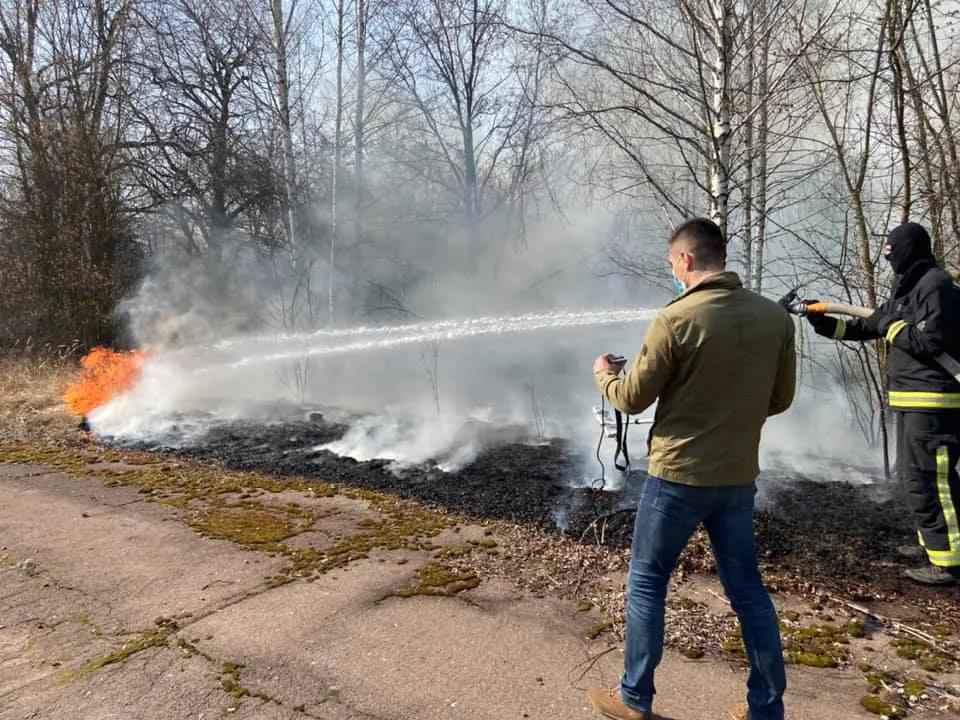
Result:
M283 195L257 114L265 38L250 9L227 0L143 3L141 12L149 143L140 180L175 218L185 250L219 266L225 238Z

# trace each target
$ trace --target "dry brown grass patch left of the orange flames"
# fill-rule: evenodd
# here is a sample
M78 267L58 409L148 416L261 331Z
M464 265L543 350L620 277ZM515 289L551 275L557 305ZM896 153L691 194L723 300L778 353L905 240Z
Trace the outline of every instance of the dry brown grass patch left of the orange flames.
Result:
M71 444L79 418L63 393L79 372L72 352L0 354L0 439Z

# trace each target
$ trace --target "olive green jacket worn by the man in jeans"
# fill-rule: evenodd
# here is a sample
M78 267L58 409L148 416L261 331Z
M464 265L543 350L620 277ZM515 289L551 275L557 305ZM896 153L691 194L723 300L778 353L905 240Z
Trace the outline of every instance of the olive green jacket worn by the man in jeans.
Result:
M764 421L793 402L793 333L782 307L745 290L736 273L718 273L657 315L626 376L598 372L597 385L630 415L659 399L651 475L685 485L749 485L760 472Z

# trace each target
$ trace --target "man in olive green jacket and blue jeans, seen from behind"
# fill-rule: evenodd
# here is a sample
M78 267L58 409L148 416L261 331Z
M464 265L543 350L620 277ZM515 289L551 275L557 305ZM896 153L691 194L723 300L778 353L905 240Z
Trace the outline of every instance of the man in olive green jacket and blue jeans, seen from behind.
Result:
M748 707L728 717L783 720L786 677L776 611L757 567L753 505L763 424L793 401L793 320L724 271L726 242L710 220L681 225L669 248L681 295L651 323L625 377L610 355L594 364L600 391L622 412L659 402L634 527L624 675L619 693L595 689L590 699L606 717L654 717L667 583L703 523L751 666Z

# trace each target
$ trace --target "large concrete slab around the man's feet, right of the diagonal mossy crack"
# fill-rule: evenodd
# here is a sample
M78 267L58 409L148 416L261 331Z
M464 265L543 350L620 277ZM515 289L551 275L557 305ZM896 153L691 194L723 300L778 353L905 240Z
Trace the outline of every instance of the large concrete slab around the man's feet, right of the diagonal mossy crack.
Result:
M378 601L403 575L404 568L358 563L350 573L251 598L192 630L212 635L200 644L205 652L245 665L245 686L322 717L589 718L585 688L616 684L618 651L580 677L606 646L587 641L590 621L563 603L519 595L495 580L454 598ZM657 680L659 711L707 720L742 700L746 678L723 663L668 654ZM824 717L817 699L824 688L858 689L840 675L795 685L796 720ZM830 717L864 715L838 708Z

